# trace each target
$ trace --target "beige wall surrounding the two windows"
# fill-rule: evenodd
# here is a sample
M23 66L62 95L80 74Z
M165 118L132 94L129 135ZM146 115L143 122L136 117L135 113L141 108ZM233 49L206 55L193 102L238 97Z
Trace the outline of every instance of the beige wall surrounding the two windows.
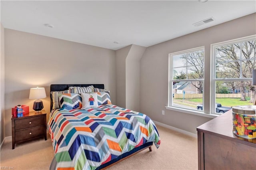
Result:
M210 113L210 45L256 34L256 13L147 47L140 61L140 111L154 121L196 133L210 118L166 110L168 54L205 46L205 111ZM162 110L165 115L162 115Z

